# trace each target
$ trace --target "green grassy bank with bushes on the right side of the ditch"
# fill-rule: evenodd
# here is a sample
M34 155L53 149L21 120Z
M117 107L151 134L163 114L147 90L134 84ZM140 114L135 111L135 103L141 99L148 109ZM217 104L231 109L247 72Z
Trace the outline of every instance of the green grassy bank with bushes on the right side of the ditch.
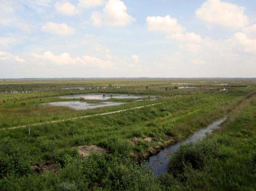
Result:
M173 190L256 190L256 98L239 105L222 126L170 159L170 174L162 177Z

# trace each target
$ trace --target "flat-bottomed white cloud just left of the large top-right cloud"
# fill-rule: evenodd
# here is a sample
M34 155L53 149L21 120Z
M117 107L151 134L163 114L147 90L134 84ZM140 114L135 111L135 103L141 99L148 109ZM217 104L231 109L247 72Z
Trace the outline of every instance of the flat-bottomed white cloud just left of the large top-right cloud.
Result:
M182 33L185 31L185 28L178 24L177 19L171 18L170 15L165 17L147 17L146 21L149 31L152 32Z

